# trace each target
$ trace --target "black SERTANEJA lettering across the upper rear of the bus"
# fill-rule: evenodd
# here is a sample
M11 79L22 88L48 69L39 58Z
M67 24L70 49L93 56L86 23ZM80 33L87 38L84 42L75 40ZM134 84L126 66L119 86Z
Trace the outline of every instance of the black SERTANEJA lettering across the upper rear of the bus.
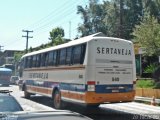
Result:
M116 54L116 55L131 55L131 50L121 48L104 48L97 47L98 54Z

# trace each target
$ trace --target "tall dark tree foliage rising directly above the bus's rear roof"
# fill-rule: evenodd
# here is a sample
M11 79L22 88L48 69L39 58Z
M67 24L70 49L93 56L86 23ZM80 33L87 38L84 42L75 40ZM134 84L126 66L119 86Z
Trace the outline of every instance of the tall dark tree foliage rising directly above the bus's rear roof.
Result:
M120 1L90 0L89 6L78 6L77 13L83 19L78 27L82 36L103 32L107 36L130 39L133 27L142 16L142 0Z

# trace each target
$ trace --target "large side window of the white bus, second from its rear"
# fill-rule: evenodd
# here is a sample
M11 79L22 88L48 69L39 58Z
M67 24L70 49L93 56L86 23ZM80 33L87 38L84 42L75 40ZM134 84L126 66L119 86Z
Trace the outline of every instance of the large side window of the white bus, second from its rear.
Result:
M81 45L75 46L73 50L73 64L80 64L81 60Z

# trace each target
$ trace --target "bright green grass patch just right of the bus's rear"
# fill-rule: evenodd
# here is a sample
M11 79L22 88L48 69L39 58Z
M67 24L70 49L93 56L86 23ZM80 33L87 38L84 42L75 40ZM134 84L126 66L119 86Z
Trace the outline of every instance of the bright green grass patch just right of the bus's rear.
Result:
M136 83L137 88L154 88L155 81L154 80L144 80L140 79Z

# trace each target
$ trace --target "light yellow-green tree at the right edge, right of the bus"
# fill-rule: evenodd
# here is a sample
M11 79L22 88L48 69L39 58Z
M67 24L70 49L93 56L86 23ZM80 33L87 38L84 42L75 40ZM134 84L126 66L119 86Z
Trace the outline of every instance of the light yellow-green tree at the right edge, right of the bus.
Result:
M133 32L134 40L146 51L146 55L160 55L160 24L153 16L146 15Z

